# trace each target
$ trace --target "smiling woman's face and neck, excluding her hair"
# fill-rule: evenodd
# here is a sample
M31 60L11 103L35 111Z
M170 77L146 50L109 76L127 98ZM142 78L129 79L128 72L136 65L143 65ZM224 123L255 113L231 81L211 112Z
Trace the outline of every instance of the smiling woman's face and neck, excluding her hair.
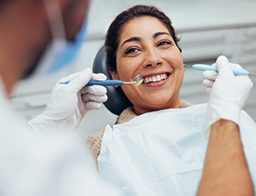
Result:
M130 20L122 29L116 55L114 79L133 81L143 76L143 84L122 85L125 95L139 115L180 107L183 59L166 26L157 18L143 16Z

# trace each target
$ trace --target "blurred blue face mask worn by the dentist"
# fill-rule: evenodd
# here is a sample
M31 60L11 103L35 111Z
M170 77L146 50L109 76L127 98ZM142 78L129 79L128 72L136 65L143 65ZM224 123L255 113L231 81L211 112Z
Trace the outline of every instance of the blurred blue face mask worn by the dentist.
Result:
M50 17L49 17L50 18ZM61 15L57 17L58 22L63 25ZM49 20L49 22L51 22ZM51 24L50 24L51 25ZM87 30L87 20L84 21L84 26L81 28L80 32L77 34L74 42L69 42L65 36L55 37L55 28L51 28L53 34L53 41L49 44L48 48L39 62L38 69L36 70L36 75L48 74L52 72L57 72L61 68L70 65L77 55L84 42ZM58 29L60 32L60 29ZM65 35L64 28L61 28L61 35Z

